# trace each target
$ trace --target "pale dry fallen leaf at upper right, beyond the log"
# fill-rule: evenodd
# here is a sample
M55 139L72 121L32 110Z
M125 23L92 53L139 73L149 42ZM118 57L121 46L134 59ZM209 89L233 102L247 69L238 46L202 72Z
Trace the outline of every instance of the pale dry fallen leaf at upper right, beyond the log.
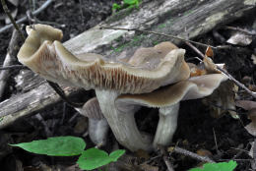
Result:
M248 35L243 32L235 32L233 35L231 35L226 42L234 45L241 45L246 46L249 45L252 42L252 35Z

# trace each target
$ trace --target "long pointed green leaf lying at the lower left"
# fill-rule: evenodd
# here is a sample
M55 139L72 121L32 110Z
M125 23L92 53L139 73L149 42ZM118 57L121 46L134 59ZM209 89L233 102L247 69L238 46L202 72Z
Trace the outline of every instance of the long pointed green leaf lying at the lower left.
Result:
M86 142L84 142L84 140L81 138L67 136L11 145L19 146L25 150L37 154L46 154L52 156L72 156L81 154L86 147Z

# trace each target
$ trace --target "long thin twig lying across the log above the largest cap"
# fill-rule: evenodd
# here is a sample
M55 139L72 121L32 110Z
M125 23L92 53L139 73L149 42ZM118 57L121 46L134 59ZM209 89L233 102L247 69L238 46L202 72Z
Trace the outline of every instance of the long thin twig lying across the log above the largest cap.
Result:
M163 35L163 36L179 39L179 40L182 40L182 41L189 41L191 43L198 44L198 45L201 45L201 46L204 46L204 47L210 46L213 49L217 49L217 47L214 47L214 46L211 46L211 45L207 45L207 44L200 43L200 42L193 41L193 40L189 40L189 39L184 39L184 38L181 38L181 37L178 37L178 36L175 36L175 35L171 35L171 34L165 34L165 33L160 33L160 32L156 32L156 31L151 31L151 30L143 30L143 29L137 29L137 28L111 28L111 27L100 27L99 29L102 29L102 28L103 29L120 29L120 30L128 30L128 31L134 30L134 31L140 31L140 32L145 32L145 33L153 33L153 34L157 34L157 35Z

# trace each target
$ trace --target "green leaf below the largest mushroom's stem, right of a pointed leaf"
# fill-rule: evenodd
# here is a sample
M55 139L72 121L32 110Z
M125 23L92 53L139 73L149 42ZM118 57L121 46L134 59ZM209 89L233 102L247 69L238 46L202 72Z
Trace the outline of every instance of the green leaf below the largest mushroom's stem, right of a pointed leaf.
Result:
M81 169L93 170L112 161L116 161L124 152L125 150L118 149L108 155L105 151L93 147L84 150L77 163Z

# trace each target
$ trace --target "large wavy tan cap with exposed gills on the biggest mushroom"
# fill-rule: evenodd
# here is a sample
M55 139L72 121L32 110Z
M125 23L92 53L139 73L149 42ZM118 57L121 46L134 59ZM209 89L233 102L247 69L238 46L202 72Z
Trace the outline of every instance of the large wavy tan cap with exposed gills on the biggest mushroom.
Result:
M93 53L73 55L60 43L61 30L43 25L34 28L27 29L29 37L19 51L18 59L54 83L142 93L189 77L189 68L184 62L185 50L173 48L168 42L151 48L153 53L137 50L131 59L142 56L143 60L132 65L134 62L112 62ZM158 62L154 58L159 58ZM154 67L145 67L147 62L154 63Z

